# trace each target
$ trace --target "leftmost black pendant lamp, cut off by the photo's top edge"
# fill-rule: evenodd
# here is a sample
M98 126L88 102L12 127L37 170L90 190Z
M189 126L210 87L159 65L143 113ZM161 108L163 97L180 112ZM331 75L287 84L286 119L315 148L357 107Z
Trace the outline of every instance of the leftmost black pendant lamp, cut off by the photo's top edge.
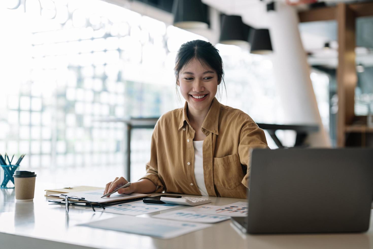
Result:
M207 6L201 0L174 0L173 25L178 28L208 28Z

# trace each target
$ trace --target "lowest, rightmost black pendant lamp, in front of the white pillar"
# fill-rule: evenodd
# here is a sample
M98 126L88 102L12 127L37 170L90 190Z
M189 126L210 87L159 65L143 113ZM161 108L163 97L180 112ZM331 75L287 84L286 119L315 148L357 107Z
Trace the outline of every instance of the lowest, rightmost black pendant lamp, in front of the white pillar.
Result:
M254 29L250 34L250 44L250 53L265 55L273 52L268 29Z

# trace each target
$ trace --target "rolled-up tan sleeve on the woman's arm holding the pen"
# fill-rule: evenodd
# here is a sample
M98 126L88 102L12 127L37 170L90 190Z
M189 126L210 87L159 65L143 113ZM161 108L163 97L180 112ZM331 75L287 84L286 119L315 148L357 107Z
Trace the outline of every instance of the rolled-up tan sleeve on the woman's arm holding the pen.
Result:
M158 160L157 160L157 124L154 127L153 135L151 136L150 161L146 164L146 174L141 179L148 179L157 186L154 193L161 193L164 190L164 182L158 175Z

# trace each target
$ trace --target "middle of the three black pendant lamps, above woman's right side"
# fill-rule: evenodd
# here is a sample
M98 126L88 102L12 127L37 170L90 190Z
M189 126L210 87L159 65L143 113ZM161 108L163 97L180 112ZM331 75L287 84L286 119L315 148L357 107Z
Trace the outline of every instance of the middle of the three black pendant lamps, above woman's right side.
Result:
M222 15L219 43L247 46L250 26L242 22L241 16Z

